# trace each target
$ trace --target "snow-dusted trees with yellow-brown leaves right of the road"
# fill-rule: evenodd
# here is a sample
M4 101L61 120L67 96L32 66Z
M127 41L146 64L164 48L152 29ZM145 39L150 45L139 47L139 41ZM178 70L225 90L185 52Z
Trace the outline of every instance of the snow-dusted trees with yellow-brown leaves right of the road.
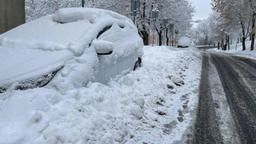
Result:
M247 37L255 36L255 0L212 0L212 9L219 12L227 21L227 26L240 24L243 51ZM250 27L252 26L252 27ZM253 50L254 38L251 50Z

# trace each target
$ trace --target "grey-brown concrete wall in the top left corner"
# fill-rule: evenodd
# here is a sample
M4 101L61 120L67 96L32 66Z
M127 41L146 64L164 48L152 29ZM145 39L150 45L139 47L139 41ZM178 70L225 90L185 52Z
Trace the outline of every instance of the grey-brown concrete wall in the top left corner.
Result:
M0 0L0 34L25 23L25 0Z

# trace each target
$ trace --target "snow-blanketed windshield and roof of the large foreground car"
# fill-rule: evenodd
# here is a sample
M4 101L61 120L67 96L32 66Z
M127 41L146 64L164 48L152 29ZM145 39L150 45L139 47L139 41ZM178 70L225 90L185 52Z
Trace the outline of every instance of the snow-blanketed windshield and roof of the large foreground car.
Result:
M51 51L68 49L80 55L103 28L113 23L137 31L130 19L116 12L63 8L0 35L0 46L19 47L22 44L26 48Z

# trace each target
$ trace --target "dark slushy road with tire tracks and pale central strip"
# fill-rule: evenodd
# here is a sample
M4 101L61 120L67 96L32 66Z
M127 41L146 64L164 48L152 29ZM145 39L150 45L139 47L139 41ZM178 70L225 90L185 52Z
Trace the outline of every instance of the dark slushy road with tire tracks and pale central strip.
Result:
M195 144L256 144L256 61L202 53Z

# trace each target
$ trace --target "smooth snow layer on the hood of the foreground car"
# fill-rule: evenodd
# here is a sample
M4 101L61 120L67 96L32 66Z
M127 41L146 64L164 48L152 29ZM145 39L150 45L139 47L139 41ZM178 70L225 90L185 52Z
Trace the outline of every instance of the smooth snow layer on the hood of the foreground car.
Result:
M52 52L0 46L0 85L42 76L63 66L73 56L68 50Z

